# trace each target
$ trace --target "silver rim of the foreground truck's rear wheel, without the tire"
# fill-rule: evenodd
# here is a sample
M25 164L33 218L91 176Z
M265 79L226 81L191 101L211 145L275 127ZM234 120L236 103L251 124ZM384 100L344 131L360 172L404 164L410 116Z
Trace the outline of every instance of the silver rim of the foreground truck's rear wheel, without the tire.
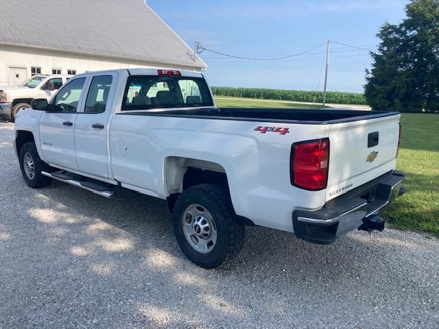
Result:
M211 252L217 243L217 227L209 210L199 204L191 204L182 215L183 234L197 252Z

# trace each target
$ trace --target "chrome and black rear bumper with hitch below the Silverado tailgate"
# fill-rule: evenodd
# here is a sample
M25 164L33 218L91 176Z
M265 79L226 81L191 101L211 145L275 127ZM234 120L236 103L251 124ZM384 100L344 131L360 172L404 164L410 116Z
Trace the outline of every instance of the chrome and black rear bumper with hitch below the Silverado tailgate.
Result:
M316 211L294 210L294 233L311 243L329 244L355 229L383 230L380 210L405 193L404 173L392 171L328 202Z

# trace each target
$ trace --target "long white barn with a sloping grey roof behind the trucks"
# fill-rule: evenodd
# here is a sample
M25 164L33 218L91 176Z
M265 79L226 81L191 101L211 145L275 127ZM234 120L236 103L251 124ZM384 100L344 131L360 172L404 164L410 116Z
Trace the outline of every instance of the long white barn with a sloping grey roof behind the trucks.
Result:
M38 73L125 67L207 65L144 0L1 1L0 86Z

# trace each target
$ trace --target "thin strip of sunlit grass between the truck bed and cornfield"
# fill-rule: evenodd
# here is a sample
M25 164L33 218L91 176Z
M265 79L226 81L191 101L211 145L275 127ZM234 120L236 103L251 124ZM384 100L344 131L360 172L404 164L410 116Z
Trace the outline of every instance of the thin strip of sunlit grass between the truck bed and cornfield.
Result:
M215 97L215 101L219 108L298 108L309 110L326 107L321 105L289 103L283 101L264 101L262 99L223 99Z

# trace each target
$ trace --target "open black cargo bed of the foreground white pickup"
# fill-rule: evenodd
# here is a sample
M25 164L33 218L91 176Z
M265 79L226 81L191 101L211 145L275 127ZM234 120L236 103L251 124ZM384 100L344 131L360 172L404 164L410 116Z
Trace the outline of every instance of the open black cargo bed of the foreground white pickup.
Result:
M160 117L187 117L198 119L225 119L236 121L270 121L301 124L328 124L376 119L398 114L387 111L361 110L301 110L294 108L195 108L181 110L156 109L147 112L126 111L120 114L153 115Z

